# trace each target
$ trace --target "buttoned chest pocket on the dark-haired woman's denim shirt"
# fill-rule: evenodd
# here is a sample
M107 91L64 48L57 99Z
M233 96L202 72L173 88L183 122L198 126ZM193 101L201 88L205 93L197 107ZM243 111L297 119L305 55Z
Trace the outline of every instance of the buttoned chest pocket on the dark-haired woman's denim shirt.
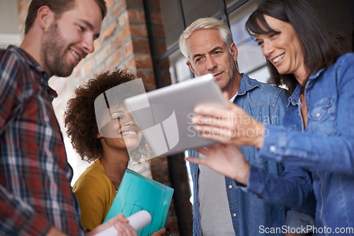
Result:
M333 135L337 132L334 98L322 98L309 110L308 128L314 134Z

